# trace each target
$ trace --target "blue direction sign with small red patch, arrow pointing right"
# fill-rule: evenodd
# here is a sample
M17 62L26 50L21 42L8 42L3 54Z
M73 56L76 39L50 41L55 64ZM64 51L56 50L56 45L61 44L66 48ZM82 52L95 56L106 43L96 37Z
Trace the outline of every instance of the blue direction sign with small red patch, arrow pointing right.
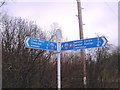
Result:
M102 37L88 38L70 42L63 42L61 44L61 50L78 50L78 49L87 49L95 47L104 47L107 43L107 39Z

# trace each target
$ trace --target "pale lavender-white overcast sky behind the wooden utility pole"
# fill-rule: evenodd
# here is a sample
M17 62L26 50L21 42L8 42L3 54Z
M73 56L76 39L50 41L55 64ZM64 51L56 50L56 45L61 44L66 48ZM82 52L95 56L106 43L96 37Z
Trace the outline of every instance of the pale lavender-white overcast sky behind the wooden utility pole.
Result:
M76 0L17 1L4 6L10 16L35 21L43 30L57 22L65 38L69 41L79 39ZM105 35L110 44L117 45L118 0L82 0L82 7L84 38L96 37L96 34Z

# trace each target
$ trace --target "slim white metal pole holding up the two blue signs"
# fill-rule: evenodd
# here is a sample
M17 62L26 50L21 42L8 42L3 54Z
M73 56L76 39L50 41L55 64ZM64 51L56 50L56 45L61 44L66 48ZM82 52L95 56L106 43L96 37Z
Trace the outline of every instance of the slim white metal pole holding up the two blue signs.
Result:
M57 57L58 90L60 90L61 89L61 61L60 61L61 42L57 42L57 51L58 51L58 57Z

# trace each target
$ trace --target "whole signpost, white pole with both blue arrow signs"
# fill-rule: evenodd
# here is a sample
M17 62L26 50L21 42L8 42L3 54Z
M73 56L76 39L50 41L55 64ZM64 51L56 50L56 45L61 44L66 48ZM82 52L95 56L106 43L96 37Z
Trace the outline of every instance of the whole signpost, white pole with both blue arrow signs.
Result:
M46 40L40 40L39 38L32 37L26 37L24 43L27 48L54 50L58 52L58 88L61 88L60 52L64 50L78 50L104 47L107 44L107 39L102 36L61 43L59 42L60 31L57 32L57 35L59 36L57 43Z

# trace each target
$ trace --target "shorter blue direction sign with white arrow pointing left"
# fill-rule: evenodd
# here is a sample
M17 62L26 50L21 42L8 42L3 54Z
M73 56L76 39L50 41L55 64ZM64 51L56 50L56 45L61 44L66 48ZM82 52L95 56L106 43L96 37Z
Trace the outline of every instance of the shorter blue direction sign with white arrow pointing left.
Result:
M27 48L57 50L57 43L40 40L39 38L26 37L24 43Z

